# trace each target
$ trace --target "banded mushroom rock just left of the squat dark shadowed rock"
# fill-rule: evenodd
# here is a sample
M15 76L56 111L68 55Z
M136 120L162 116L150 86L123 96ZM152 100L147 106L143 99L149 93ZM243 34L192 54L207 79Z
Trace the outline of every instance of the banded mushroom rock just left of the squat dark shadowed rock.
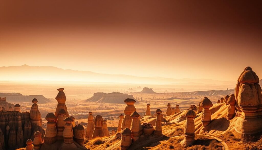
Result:
M64 143L67 144L73 143L73 137L74 137L73 128L72 128L73 119L67 117L64 119L64 122L65 122L65 127L63 131Z

